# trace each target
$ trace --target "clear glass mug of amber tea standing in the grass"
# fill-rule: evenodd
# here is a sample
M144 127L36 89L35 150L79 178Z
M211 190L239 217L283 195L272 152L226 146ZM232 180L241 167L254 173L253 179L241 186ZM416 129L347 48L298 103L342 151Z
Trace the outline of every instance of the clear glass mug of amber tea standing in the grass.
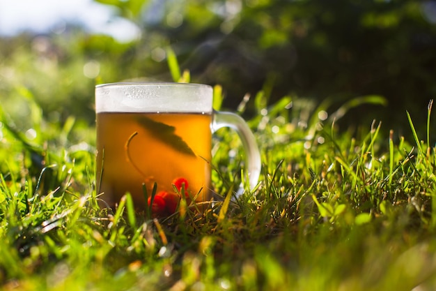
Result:
M254 135L238 115L213 110L212 96L212 87L204 84L96 86L96 177L103 204L114 207L129 192L135 209L151 207L155 216L168 216L181 195L188 205L209 201L212 133L222 127L240 136L254 188L260 174ZM155 184L154 200L147 201Z

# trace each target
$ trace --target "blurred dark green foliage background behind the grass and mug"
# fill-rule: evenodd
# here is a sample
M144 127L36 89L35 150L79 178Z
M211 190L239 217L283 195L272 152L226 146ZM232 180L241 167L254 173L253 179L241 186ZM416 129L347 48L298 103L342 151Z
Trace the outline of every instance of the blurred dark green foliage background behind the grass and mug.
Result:
M368 127L376 119L408 135L408 110L416 129L426 130L436 96L436 1L95 1L134 23L141 37L120 43L70 23L0 38L1 106L19 128L30 122L29 98L49 121L72 115L92 126L95 84L171 81L171 46L192 82L222 85L226 108L261 89L268 103L298 96L329 114L377 95L387 102L355 107L338 126Z

